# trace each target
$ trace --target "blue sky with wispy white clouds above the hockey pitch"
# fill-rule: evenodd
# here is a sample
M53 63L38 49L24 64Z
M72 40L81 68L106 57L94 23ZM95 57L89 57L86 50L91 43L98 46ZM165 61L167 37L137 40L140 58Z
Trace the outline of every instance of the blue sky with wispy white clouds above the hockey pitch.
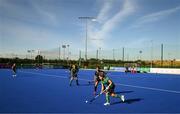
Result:
M0 55L68 44L78 56L85 49L83 16L96 17L88 21L88 52L162 43L180 49L180 0L0 0ZM168 55L179 59L175 53Z

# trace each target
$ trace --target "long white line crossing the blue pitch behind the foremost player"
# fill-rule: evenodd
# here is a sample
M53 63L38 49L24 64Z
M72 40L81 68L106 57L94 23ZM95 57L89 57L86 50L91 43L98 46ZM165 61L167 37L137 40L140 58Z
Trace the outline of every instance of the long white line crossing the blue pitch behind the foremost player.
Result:
M23 72L23 71L21 71L21 72L22 72L22 73L30 73L30 74L38 74L38 75L46 75L47 77L52 77L52 76L53 76L53 77L57 77L57 78L68 78L68 77L59 76L59 75L51 75L51 74L43 74L43 73L33 73L33 72ZM78 78L78 80L92 81L92 80L80 79L80 78ZM167 90L167 89L159 89L159 88L151 88L151 87L134 86L134 85L120 84L120 83L116 83L116 85L180 94L180 91Z

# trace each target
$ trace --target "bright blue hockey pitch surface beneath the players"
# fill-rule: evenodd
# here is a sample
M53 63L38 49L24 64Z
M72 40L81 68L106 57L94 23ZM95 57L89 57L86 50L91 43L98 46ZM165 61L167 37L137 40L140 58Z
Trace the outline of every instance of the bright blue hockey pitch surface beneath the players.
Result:
M105 95L92 103L94 70L80 70L79 83L69 86L67 69L0 69L0 113L180 113L180 75L125 74L109 71L115 91L125 102ZM98 86L100 92L101 85Z

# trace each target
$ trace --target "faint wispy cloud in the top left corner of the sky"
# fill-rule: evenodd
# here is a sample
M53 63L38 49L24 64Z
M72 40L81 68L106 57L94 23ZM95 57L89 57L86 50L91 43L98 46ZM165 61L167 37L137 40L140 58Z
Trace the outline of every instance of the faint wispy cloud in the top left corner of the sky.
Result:
M51 11L52 6L38 1L24 1L26 5L13 1L1 1L0 12L5 13L5 16L17 21L40 23L55 26L58 24L57 15ZM46 7L43 7L45 6Z

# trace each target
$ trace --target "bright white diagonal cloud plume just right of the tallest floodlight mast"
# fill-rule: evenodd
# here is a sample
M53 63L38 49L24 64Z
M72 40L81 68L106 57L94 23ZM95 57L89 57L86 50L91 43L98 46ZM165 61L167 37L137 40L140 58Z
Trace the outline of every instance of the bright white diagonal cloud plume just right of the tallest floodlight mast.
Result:
M107 2L104 4L103 8L101 9L99 15L108 17L110 15L109 10L113 7L113 4L111 2ZM103 25L100 27L99 31L96 29L96 31L92 32L90 34L90 37L95 37L97 40L92 41L94 46L100 46L104 47L103 41L98 41L98 39L106 39L109 36L109 33L116 27L119 26L129 15L133 13L135 9L135 4L130 0L125 0L123 3L123 7L119 9L119 11L109 20L105 21ZM105 15L106 14L106 15ZM100 17L99 16L99 17Z

